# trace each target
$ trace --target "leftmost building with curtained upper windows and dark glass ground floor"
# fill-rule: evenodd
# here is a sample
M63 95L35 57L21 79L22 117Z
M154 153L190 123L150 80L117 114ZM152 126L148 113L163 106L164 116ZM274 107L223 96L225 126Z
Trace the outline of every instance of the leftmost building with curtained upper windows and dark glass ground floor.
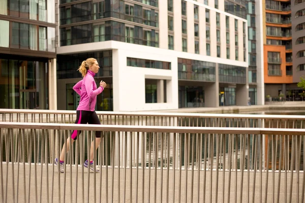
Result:
M54 0L0 1L0 108L57 108L55 28Z

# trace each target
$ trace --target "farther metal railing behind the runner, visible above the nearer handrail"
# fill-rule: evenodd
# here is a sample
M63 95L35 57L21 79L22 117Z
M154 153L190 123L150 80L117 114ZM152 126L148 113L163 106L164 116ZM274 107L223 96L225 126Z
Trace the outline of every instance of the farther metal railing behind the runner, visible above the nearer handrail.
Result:
M299 111L302 107L285 108ZM277 107L262 107L262 111L269 110ZM103 125L305 128L305 117L298 115L107 111L97 111L97 115ZM0 109L2 122L74 123L75 120L76 111Z

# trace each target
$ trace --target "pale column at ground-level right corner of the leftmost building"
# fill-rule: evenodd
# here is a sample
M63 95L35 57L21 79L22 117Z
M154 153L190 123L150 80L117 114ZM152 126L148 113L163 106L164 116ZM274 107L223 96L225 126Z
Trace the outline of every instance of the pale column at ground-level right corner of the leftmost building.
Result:
M56 58L49 59L49 110L57 110Z

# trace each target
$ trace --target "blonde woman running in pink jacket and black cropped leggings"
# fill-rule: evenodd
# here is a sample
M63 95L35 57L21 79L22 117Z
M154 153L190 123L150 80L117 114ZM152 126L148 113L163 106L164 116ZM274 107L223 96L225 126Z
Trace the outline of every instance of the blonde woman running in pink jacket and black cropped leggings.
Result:
M79 105L76 110L77 118L75 123L77 124L101 124L101 121L95 112L95 106L97 102L97 95L102 93L106 87L106 83L101 81L100 86L97 88L94 76L99 72L99 69L99 63L95 58L88 58L87 60L84 60L79 66L78 71L82 74L83 80L79 81L73 87L74 91L80 95ZM67 153L70 147L70 140L72 143L74 143L80 132L81 131L77 130L72 132L71 139L68 138L67 142L63 145L59 160L58 158L55 158L55 164L57 165L59 162L60 173L64 173L65 149L67 148ZM84 166L89 167L90 171L94 171L93 153L94 150L99 147L100 142L101 131L96 131L96 146L94 146L94 142L92 141L90 146L90 160L87 159L84 162ZM99 172L99 168L97 167L96 172Z

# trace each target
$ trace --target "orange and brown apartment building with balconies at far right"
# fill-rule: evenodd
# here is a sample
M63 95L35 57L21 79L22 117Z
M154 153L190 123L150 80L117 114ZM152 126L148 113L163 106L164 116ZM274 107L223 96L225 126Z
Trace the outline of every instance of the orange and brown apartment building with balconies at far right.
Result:
M305 1L265 1L265 95L300 100L297 87L305 76Z

